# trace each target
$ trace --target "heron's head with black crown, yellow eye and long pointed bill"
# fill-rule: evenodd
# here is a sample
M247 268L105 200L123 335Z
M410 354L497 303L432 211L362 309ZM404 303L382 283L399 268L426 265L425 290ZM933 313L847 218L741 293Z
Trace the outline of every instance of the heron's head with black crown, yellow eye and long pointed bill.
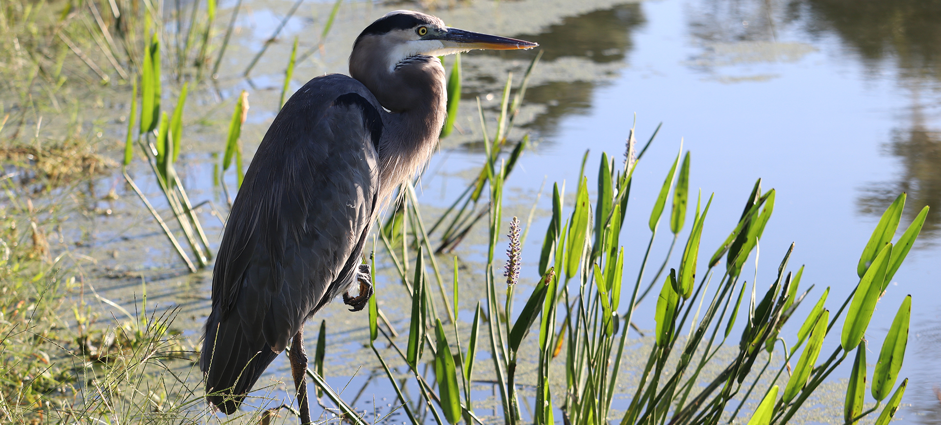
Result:
M354 61L366 57L378 59L389 71L409 57L416 55L452 55L474 49L515 50L532 49L538 44L521 39L474 33L445 26L440 19L412 10L394 10L370 24L353 44L350 68ZM375 57L379 56L379 57Z

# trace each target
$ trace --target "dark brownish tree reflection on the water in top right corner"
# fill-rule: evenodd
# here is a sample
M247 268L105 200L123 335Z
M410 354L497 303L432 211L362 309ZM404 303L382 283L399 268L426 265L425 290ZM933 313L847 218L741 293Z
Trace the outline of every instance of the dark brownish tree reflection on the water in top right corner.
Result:
M903 170L897 181L862 190L862 213L879 214L892 192L908 192L905 217L910 221L925 205L941 206L941 133L936 100L923 99L941 88L941 3L917 0L891 2L801 0L791 2L794 15L805 16L805 30L816 37L837 35L872 73L894 71L910 92L906 121L891 134L886 151L899 157ZM888 70L886 70L886 68ZM941 220L929 214L923 234L935 237Z

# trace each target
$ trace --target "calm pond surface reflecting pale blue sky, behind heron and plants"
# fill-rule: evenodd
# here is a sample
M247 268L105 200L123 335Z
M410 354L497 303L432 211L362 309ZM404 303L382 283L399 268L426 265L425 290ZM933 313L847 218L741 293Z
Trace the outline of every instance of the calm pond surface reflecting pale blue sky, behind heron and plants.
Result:
M220 16L231 13L232 3L222 2ZM217 97L203 100L205 104L231 101L241 89L251 93L249 126L244 133L249 151L277 112L272 105L277 104L290 40L299 36L301 51L316 46L330 8L313 2L299 8L251 79L242 78L250 57L292 3L246 1L239 31L220 71ZM345 72L352 40L390 9L344 4L324 50L298 64L292 88L326 71ZM744 198L761 178L763 187L777 190L777 204L760 244L759 285L774 279L780 257L793 242L791 267L806 264L802 286L817 286L810 298L831 288L830 308L838 308L857 282L856 262L885 207L899 193L908 193L904 227L923 206L931 206L918 244L875 312L868 339L869 359L874 362L902 298L914 296L912 330L901 371L910 384L897 417L905 423L941 423L941 402L935 395L941 386L941 282L933 272L934 261L941 259L937 239L941 236L941 6L907 0L590 0L572 4L525 0L456 2L453 8L433 13L456 27L537 41L545 52L518 120L521 129L514 133L528 132L534 143L509 180L511 196L504 215L515 213L523 218L543 181L547 187L553 181L567 181L570 196L585 150L590 150L586 174L591 187L600 152L623 155L635 115L641 142L663 122L634 175L630 215L622 236L630 259L625 275L637 273L649 237L647 216L680 140L683 150L693 152L691 188L700 188L704 197L715 193L703 235L704 249L711 251L725 239ZM506 72L514 71L518 80L533 55L471 53L464 57L467 81L458 130L442 141L419 187L420 200L430 213L450 205L483 161L475 99L481 98L491 117L499 106ZM230 110L230 105L226 103L224 109ZM219 202L224 197L207 176L212 176L210 153L220 142L207 132L193 143L181 165L186 183L193 187L191 196ZM229 184L233 187L231 176ZM152 181L148 190L156 194ZM550 207L547 193L538 203L534 232L523 248L524 275L527 269L534 274L538 261L542 229L548 224L542 213ZM130 200L130 194L126 199L136 201ZM152 241L153 249L164 249L158 246L159 235L146 230L147 215L136 217L141 228L135 231ZM221 227L212 220L215 228L210 232L217 241ZM680 237L685 240L685 234ZM144 249L139 242L120 242L118 236L99 238L108 241L103 250ZM466 245L461 255L479 262L479 244L471 238ZM662 256L668 245L668 238L662 237L654 245L655 253ZM168 251L165 254L166 262L145 265L166 267L174 259ZM742 275L755 273L751 268ZM207 276L159 280L160 290L152 295L163 293L167 302L185 307L182 323L188 323L194 336L208 306ZM128 300L127 294L138 285L139 281L119 280L104 284L102 291ZM391 307L395 298L385 302L391 314L402 316ZM795 314L801 320L792 321L796 324L782 335L793 338L811 304L805 303ZM653 328L652 307L653 303L645 303L639 308L641 328ZM325 314L330 318L330 351L335 359L329 382L339 387L348 381L344 375L357 370L357 359L366 355L361 350L365 314L346 314L341 308L334 305ZM312 328L314 323L309 325ZM308 344L314 334L308 331ZM837 338L830 343L836 344L833 339ZM838 376L847 376L849 363L837 370ZM286 368L279 360L269 375L286 376ZM360 370L350 385L354 389L347 391L358 389L368 375ZM390 395L391 390L378 384L366 386L364 399L371 399L373 393L378 398ZM841 415L842 394L837 399L837 415Z

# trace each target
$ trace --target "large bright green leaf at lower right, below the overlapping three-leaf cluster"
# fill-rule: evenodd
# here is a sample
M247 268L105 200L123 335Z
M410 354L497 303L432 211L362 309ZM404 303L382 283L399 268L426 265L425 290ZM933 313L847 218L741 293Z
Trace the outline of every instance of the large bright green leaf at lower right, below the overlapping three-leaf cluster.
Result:
M901 363L905 359L905 347L908 345L908 321L912 314L912 295L905 297L899 311L895 314L892 326L885 335L879 362L872 372L872 398L883 401L895 386Z

